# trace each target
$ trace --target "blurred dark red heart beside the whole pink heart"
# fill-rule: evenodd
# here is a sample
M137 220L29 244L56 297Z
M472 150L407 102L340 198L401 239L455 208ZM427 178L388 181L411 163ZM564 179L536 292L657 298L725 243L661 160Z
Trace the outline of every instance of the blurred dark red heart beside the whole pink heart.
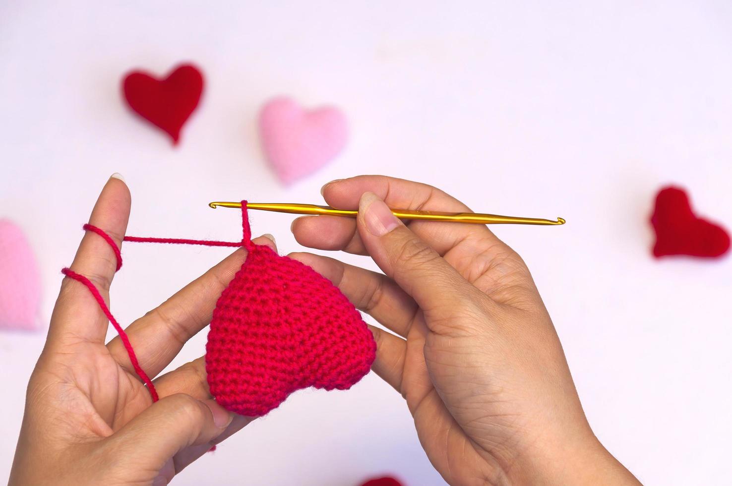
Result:
M176 67L162 81L134 71L124 77L122 91L135 113L168 133L177 145L183 125L201 100L203 75L191 64Z

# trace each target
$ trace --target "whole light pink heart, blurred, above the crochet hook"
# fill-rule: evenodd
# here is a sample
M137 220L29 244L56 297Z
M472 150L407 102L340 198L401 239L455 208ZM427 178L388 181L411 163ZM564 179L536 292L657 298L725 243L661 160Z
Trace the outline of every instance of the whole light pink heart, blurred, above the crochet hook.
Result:
M291 184L343 150L348 124L337 108L305 111L290 98L280 97L262 107L259 132L267 161L282 182Z

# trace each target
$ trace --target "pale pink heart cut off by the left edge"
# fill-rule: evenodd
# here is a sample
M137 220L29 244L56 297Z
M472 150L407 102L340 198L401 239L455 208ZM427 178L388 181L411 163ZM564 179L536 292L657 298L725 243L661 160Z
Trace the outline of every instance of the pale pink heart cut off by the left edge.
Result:
M33 250L18 225L0 220L0 329L38 329L40 300Z

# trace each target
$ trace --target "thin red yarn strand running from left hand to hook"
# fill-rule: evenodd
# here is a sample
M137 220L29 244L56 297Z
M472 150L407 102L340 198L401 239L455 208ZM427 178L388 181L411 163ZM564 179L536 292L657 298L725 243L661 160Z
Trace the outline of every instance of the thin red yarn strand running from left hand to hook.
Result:
M119 250L119 246L117 246L112 237L109 236L108 233L106 233L101 228L97 228L97 226L90 225L89 223L83 225L82 228L84 231L97 233L99 236L102 237L102 239L104 239L105 242L109 244L114 252L114 255L117 258L115 272L118 272L119 269L122 268L122 251ZM133 243L201 244L207 247L247 247L247 249L250 249L252 245L252 231L249 227L249 218L247 217L247 201L242 201L242 231L243 233L241 242L217 242L206 239L152 238L146 236L124 236L123 241ZM127 337L127 333L124 332L122 326L119 325L119 322L117 322L117 320L112 315L111 310L109 310L106 302L104 302L104 298L102 297L102 294L100 294L100 291L97 289L94 283L91 283L91 280L81 274L74 272L68 267L61 269L61 273L64 274L64 276L66 277L83 283L83 285L86 285L86 288L89 289L89 292L91 292L91 295L94 296L94 299L97 301L97 304L99 304L102 312L112 323L112 326L116 330L117 334L119 334L119 339L122 340L122 345L124 345L124 349L127 351L127 356L130 357L130 363L132 363L132 367L135 369L135 373L137 373L143 383L147 386L147 390L152 397L153 403L157 402L157 390L155 389L152 380L149 378L147 373L145 373L145 370L143 370L140 366L137 356L135 355L135 349L132 348L132 343L130 343L130 338ZM215 446L211 450L214 450L214 448Z

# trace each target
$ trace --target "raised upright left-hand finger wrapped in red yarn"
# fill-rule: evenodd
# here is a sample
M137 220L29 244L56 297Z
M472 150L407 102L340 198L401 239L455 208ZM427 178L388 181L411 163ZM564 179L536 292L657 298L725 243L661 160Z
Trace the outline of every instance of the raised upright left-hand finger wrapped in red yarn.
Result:
M130 217L130 190L117 174L105 184L91 211L89 224L105 231L117 247L122 244ZM97 233L86 231L70 266L72 271L89 278L105 301L117 268L112 247ZM82 283L64 278L49 326L49 344L59 340L103 343L108 321L94 296Z

